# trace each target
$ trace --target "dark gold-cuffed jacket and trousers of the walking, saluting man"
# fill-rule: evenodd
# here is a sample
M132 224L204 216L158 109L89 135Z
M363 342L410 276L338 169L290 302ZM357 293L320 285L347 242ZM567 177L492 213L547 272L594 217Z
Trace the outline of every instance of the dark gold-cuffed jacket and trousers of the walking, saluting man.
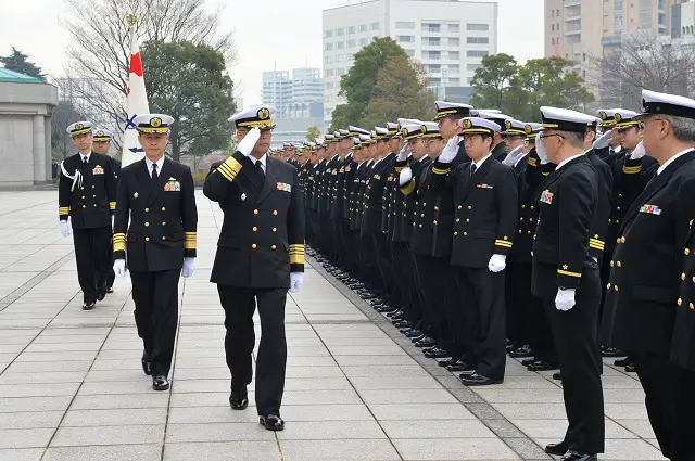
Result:
M279 415L285 388L285 303L290 272L304 272L304 203L296 169L266 157L265 172L240 152L213 165L203 193L225 213L210 281L225 309L225 350L231 388L253 375L253 313L258 306L258 414Z

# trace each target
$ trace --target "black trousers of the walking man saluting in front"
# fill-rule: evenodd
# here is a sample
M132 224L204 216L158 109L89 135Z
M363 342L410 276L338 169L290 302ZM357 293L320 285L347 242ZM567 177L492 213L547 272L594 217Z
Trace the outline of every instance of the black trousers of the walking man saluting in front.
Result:
M253 312L258 304L261 344L256 355L256 407L260 415L279 415L287 364L287 289L242 289L218 284L217 292L225 309L225 353L232 389L251 384L253 377Z

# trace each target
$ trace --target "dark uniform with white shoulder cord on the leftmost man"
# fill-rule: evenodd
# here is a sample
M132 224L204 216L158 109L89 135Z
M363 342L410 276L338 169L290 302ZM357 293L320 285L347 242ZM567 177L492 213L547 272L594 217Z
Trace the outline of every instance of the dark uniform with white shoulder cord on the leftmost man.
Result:
M91 128L89 128L91 133ZM116 206L116 179L111 157L91 152L75 154L61 167L59 218L70 217L75 242L77 278L85 306L103 299L110 273L111 216ZM70 177L79 171L81 183Z

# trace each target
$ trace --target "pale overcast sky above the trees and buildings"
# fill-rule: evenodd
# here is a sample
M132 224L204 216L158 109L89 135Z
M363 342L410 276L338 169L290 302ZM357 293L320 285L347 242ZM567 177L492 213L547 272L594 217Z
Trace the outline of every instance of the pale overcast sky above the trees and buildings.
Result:
M349 2L207 1L211 8L226 5L222 27L233 31L239 55L238 62L229 68L229 74L237 85L236 95L243 98L244 105L261 102L263 71L305 65L321 67L321 10ZM353 3L358 3L358 0L353 0ZM543 0L498 0L497 3L497 51L511 54L519 62L542 57ZM52 76L64 75L64 50L71 37L60 26L59 18L65 11L63 0L0 0L0 55L7 55L10 47L14 46L28 53L45 73Z

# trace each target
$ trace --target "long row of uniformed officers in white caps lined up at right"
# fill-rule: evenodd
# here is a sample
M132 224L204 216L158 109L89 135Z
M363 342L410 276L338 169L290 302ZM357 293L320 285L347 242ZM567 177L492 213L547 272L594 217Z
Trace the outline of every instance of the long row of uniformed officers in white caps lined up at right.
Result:
M543 124L437 108L286 146L309 253L466 385L503 382L505 351L559 368L569 427L548 453L603 452L603 354L637 372L665 456L695 459L695 101L645 90L642 113Z

